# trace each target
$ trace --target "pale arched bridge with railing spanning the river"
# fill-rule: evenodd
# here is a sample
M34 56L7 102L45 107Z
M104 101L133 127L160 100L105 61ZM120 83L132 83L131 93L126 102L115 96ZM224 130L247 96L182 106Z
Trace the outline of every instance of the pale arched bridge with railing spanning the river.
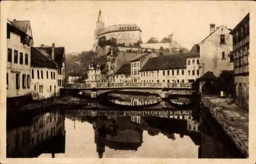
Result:
M168 95L177 95L179 97L187 97L193 94L191 84L174 84L174 83L104 83L104 84L72 84L65 85L63 92L69 94L78 94L83 92L91 94L96 91L98 95L110 91L127 91L127 92L144 92L151 94L158 94L162 96L163 91Z

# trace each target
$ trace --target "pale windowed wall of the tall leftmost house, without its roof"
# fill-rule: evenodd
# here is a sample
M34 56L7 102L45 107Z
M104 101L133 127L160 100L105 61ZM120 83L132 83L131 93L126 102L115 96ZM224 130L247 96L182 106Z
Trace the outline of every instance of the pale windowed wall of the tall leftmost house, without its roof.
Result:
M7 38L7 98L30 95L30 46L10 32ZM31 42L32 43L32 42Z

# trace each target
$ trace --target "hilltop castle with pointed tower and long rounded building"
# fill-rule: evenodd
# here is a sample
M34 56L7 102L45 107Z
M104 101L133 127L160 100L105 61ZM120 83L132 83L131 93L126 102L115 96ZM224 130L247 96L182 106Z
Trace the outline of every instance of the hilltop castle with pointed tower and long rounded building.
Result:
M98 49L98 39L105 37L106 40L111 38L116 39L116 44L121 44L123 46L134 45L135 43L141 43L141 29L137 24L117 24L105 26L102 20L102 14L99 10L98 19L96 21L96 29L94 32L94 46L93 50Z

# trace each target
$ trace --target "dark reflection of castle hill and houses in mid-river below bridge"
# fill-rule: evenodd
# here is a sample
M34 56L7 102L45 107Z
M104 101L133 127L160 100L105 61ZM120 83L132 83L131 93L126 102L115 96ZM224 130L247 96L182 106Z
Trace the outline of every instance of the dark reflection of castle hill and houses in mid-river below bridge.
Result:
M92 120L96 151L102 158L105 147L115 150L134 150L143 143L143 131L156 136L162 133L170 140L184 135L200 146L201 133L195 111L90 111L79 110L75 116Z

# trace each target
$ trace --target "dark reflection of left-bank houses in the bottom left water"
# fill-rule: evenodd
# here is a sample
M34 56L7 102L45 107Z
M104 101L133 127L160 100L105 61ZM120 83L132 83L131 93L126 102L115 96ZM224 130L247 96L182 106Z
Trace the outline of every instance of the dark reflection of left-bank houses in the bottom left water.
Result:
M29 120L29 119L28 119ZM65 115L52 111L33 116L23 126L8 128L7 157L37 157L41 153L65 153Z

